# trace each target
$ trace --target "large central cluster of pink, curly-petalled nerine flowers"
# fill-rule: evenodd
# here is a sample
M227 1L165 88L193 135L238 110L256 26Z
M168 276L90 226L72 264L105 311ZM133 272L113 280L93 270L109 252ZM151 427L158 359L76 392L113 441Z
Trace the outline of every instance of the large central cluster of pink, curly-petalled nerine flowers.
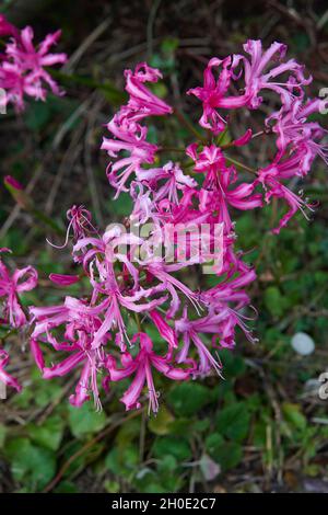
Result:
M93 394L99 407L101 389L130 378L121 397L126 409L141 405L145 388L150 410L157 412L155 376L178 381L212 371L221 376L220 350L235 346L236 330L256 341L246 324L251 318L246 287L256 272L235 250L233 216L283 198L289 210L273 229L279 232L297 209L312 208L288 181L306 175L316 156L327 161L327 148L325 130L308 121L321 102L306 99L311 78L295 60L284 59L286 47L273 43L263 52L259 41L249 41L244 50L246 55L212 58L203 85L188 91L202 103L199 124L207 133L190 141L180 162L160 164L159 151L165 149L148 138L147 118L174 115L153 93L160 71L142 62L125 72L129 100L107 124L102 149L110 157L107 178L115 198L129 194L132 211L125 225L108 226L102 233L87 209L73 206L66 244L72 234L72 258L81 273L51 274L50 281L69 287L86 277L90 293L30 310L31 348L43 377L79 369L73 405ZM15 46L9 54L15 55ZM233 139L224 113L249 110L260 115L267 95L277 110L263 119L260 135L272 139L274 157L265 168L244 167L254 173L245 181L238 171L243 163L230 152L250 147L257 135L245 127ZM204 270L214 275L210 288L195 282ZM20 291L16 276L5 281L5 294L7 284ZM55 364L54 351L59 353Z

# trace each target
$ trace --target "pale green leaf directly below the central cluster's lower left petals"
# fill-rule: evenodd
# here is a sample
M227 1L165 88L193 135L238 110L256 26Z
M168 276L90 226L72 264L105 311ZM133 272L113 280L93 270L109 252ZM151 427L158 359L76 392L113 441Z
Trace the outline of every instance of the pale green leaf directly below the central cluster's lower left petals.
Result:
M104 411L97 412L92 402L85 402L81 408L69 407L69 426L77 438L97 433L106 425Z

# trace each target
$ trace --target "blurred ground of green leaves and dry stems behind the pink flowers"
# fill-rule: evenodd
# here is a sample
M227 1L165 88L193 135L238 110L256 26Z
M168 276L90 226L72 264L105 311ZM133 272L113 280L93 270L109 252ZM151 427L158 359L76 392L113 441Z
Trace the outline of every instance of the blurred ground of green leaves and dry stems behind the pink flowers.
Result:
M125 68L144 59L161 68L156 93L190 122L199 118L200 105L186 90L201 82L210 57L239 53L247 38L286 43L289 56L313 75L313 94L328 87L324 1L2 0L0 11L20 27L33 25L37 39L61 27L58 48L70 56L59 79L66 96L28 102L20 116L0 116L1 184L14 175L60 229L72 204L87 206L103 228L129 211L128 197L114 203L107 158L99 152L104 124L125 99ZM154 123L150 133L154 142L190 142L172 121ZM268 152L262 141L257 160ZM245 159L251 162L251 156ZM11 371L25 388L0 401L0 492L328 492L328 400L318 396L318 377L328 369L323 162L316 161L303 186L318 202L309 222L297 214L273 237L269 229L280 205L237 217L238 248L258 272L250 295L259 343L241 333L233 353L220 353L224 380L213 376L173 387L159 381L157 417L126 413L119 385L99 413L92 402L71 408L67 397L75 377L42 380L24 352L24 335L7 340ZM62 237L16 206L3 185L0 227L0 247L14 251L17 265L39 270L44 288L24 302L59 302L65 291L49 284L48 274L70 273L71 259L45 238L60 243ZM70 291L78 295L79 288ZM306 356L291 343L298 332L314 342Z

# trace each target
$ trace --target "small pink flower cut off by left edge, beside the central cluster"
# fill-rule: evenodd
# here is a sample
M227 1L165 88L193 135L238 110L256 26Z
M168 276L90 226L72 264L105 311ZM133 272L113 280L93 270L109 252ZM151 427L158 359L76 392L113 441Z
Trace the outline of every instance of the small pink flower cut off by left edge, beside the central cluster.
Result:
M21 328L26 323L26 316L21 307L17 294L30 291L36 285L37 272L33 266L17 268L10 275L9 270L0 259L0 297L4 297L4 317L13 328Z

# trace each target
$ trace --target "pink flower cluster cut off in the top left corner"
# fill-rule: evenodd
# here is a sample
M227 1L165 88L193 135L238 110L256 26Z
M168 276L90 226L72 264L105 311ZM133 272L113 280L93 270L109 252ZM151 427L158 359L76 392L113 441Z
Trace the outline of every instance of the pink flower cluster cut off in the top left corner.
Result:
M45 101L46 87L56 95L62 94L47 71L47 67L63 64L67 60L66 54L49 53L51 46L57 44L60 34L61 31L48 34L35 47L31 26L19 31L0 14L0 37L8 38L0 54L0 88L5 92L5 95L0 99L0 107L5 108L8 104L13 104L17 111L23 111L25 95Z

